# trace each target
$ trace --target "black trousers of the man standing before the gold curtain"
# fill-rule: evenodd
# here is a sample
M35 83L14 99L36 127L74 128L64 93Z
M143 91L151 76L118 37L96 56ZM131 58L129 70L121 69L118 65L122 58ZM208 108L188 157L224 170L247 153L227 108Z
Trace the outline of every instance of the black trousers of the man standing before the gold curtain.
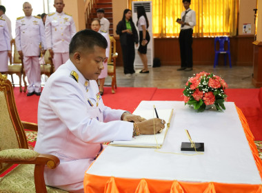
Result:
M181 30L179 33L181 68L193 67L192 34L192 29Z

